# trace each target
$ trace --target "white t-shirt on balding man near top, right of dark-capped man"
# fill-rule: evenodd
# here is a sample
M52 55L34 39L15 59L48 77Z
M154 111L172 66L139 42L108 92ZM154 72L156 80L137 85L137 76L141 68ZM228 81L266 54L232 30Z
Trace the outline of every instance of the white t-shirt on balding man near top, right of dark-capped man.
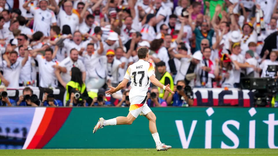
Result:
M61 30L64 25L69 25L72 34L78 30L79 18L76 14L72 13L68 15L62 8L59 10L57 15L57 25L60 26Z

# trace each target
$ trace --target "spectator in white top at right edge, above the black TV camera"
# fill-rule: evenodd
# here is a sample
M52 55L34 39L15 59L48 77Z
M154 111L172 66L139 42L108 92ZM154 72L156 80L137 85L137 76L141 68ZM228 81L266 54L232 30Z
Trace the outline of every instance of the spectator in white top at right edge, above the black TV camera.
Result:
M267 67L269 65L278 65L277 59L277 51L271 51L269 54L270 59L266 59L259 65L259 68L257 69L258 72L261 72L261 77L274 77L276 73L268 72Z

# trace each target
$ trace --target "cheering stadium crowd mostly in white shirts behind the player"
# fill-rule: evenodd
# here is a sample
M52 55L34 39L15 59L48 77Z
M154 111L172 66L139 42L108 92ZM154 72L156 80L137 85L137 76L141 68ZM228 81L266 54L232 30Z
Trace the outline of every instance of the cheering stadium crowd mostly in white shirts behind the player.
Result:
M139 60L139 47L149 49L156 77L175 92L149 88L149 107L192 105L185 86L239 88L240 77L276 77L267 67L278 65L277 5L0 0L0 91L26 87L17 99L2 97L0 106L129 106L129 86L109 98L105 90ZM43 96L32 96L28 86ZM54 88L65 92L65 100L56 99Z

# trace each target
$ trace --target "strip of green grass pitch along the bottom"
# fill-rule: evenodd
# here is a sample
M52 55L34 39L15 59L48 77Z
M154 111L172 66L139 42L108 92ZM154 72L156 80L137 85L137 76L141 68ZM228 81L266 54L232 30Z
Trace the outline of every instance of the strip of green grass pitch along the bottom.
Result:
M35 149L35 150L0 150L0 155L278 155L278 149L178 149L156 151L153 149Z

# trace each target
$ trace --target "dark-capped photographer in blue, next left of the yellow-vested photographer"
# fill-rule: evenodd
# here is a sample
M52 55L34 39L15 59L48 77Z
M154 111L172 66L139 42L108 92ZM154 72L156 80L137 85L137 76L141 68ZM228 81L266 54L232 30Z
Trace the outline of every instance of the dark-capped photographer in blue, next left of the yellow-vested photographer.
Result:
M53 90L50 88L45 88L42 103L43 106L64 106L61 100L56 100L54 98Z

